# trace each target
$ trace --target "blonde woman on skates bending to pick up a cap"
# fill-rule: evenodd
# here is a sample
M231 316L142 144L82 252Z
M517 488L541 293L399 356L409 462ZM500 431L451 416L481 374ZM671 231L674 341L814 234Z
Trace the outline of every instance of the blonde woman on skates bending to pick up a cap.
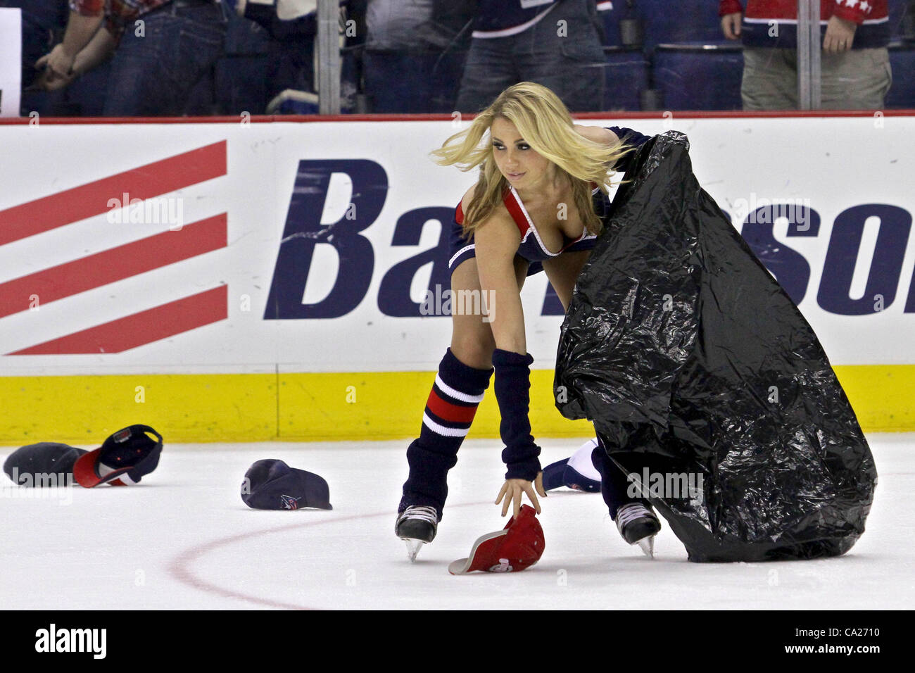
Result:
M647 139L630 129L576 125L554 92L522 81L432 153L443 166L479 167L477 183L455 211L449 268L452 297L475 292L486 308L477 315L453 313L451 347L439 364L420 436L407 449L410 474L395 532L411 559L436 536L447 472L457 463L493 371L507 466L496 504L502 504L502 516L510 505L517 516L527 494L540 513L537 494L546 492L528 420L533 357L521 288L525 277L543 270L568 310L609 208L608 180L625 170L631 147ZM651 505L626 495L625 477L603 449L595 450L594 461L620 534L648 553L646 543L661 528Z

